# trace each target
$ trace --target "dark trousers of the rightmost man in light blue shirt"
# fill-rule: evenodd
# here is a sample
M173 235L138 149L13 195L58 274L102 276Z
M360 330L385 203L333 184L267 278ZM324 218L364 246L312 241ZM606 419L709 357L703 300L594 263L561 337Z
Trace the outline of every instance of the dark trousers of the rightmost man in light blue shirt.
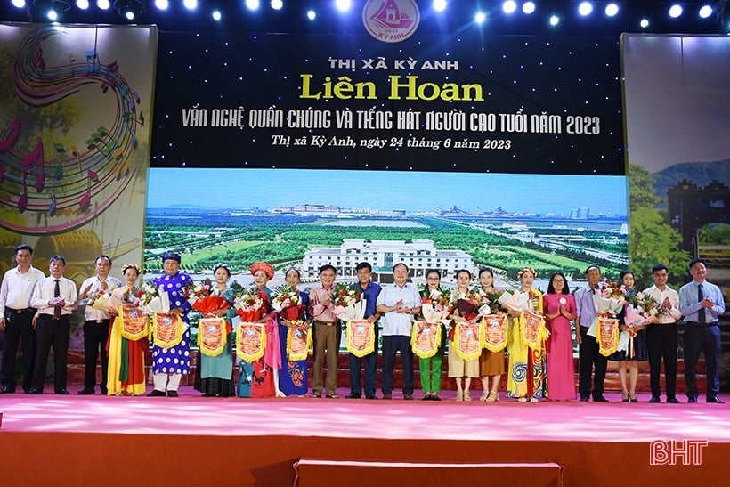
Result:
M700 353L705 356L705 373L707 374L707 397L714 397L720 392L720 375L718 361L720 358L720 329L717 325L686 323L685 325L685 385L687 397L697 397L697 361Z

